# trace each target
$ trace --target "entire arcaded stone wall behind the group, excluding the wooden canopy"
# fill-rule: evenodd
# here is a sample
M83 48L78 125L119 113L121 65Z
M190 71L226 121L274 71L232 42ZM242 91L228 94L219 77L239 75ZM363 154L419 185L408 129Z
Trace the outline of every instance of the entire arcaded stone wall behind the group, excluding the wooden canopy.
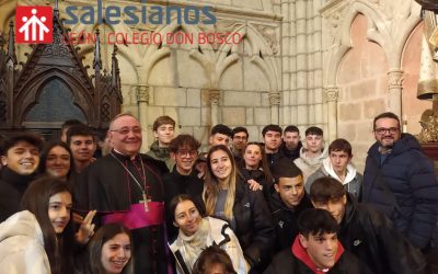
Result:
M14 7L45 1L0 3L0 31L8 31ZM85 0L60 1L89 4ZM140 5L138 1L104 4ZM177 133L194 134L204 145L212 124L245 125L252 140L269 123L324 128L330 141L351 140L355 161L362 164L372 142L372 117L394 111L417 133L427 102L415 100L419 66L419 5L413 0L150 0L154 5L211 4L211 25L73 25L73 32L149 31L194 34L229 31L242 35L238 45L119 45L118 59L125 112L143 125L143 149L152 141L151 125L166 114ZM102 59L110 70L113 45L103 41ZM16 54L24 60L28 46ZM81 45L91 65L93 45Z

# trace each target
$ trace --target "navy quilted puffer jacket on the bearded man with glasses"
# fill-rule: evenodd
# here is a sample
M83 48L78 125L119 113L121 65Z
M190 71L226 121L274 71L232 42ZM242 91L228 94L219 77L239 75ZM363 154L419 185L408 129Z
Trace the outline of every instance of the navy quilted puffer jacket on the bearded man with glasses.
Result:
M387 214L414 246L427 248L437 226L438 182L434 165L410 134L402 135L382 163L379 146L376 142L368 150L362 202Z

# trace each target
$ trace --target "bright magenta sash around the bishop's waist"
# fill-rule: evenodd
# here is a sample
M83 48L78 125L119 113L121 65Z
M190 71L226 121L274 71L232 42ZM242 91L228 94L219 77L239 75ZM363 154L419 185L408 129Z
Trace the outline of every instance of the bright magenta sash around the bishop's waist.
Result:
M129 229L163 225L164 203L148 202L148 212L143 204L134 204L129 212L117 212L105 215L103 224L122 222Z

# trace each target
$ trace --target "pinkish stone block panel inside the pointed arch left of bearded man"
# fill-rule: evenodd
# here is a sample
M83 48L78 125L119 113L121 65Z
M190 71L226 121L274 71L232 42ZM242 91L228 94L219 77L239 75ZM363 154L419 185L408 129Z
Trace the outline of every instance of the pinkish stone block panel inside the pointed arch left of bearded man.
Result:
M388 62L382 48L367 41L367 26L361 14L353 21L353 48L337 75L337 133L354 144L354 160L359 168L364 168L366 151L373 141L372 118L388 110Z

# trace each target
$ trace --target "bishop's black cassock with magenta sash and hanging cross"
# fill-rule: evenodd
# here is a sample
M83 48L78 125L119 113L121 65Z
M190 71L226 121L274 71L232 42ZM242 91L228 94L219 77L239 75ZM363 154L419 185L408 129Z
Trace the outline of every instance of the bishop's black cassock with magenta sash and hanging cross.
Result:
M85 169L74 185L78 210L96 209L102 225L123 222L131 230L138 274L171 273L161 182L164 168L149 156L139 153L132 160L113 150Z

